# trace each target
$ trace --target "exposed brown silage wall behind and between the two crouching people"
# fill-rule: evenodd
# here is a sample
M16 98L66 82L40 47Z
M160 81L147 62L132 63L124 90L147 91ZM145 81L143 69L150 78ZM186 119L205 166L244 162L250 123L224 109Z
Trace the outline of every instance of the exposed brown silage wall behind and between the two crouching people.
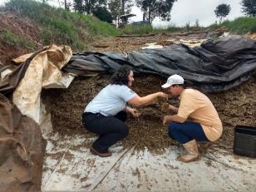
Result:
M91 133L81 126L81 113L85 106L109 82L110 76L101 75L91 78L77 78L67 90L47 90L43 93L43 101L47 103L47 110L51 111L52 124L55 131L64 135L81 134L91 137ZM133 90L140 96L155 91L161 91L160 85L165 79L159 76L135 76ZM219 112L223 121L224 134L216 144L231 147L234 140L234 126L256 126L256 77L222 93L207 94ZM130 134L121 145L137 149L149 148L150 151L160 151L171 145L170 137L162 118L165 112L161 106L166 101L158 100L148 106L138 107L142 113L139 119L129 116L127 124ZM171 104L178 104L177 99L171 98Z

